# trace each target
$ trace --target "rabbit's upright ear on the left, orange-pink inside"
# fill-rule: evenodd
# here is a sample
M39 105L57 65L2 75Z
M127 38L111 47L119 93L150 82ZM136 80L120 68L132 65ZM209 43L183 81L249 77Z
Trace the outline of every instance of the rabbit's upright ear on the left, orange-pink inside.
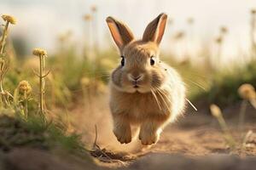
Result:
M126 44L134 39L134 36L128 26L113 17L107 18L109 30L112 34L113 40L121 51Z

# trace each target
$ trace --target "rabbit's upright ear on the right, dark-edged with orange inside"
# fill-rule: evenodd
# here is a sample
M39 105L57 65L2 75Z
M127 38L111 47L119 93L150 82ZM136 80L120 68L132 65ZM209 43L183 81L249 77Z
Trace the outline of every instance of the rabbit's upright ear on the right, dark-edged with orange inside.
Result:
M160 14L152 20L143 34L144 42L156 42L160 44L166 29L167 14Z

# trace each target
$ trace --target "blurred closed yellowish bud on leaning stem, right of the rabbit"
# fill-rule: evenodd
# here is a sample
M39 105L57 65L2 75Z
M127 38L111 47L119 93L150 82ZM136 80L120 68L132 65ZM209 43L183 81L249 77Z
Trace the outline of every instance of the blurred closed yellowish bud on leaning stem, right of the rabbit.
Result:
M210 105L210 111L212 113L212 116L217 118L218 124L220 125L221 129L224 132L224 137L226 139L226 142L230 145L232 149L236 147L236 141L233 139L232 135L230 134L229 128L224 120L224 117L222 115L222 111L219 109L218 105Z

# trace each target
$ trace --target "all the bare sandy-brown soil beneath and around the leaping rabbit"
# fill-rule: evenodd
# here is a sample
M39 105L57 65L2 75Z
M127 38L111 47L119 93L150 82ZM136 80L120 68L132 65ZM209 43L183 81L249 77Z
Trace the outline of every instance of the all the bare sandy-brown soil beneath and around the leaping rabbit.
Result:
M98 101L102 103L102 101ZM103 102L104 103L104 102ZM73 124L83 134L84 144L92 148L93 161L73 156L55 156L44 150L16 149L4 157L12 169L255 169L256 111L248 107L242 130L237 127L240 104L224 110L230 134L236 140L231 148L224 139L217 120L207 109L187 111L179 120L166 127L160 141L143 146L138 139L119 144L111 132L111 116L107 105L93 111L79 107L73 111ZM97 130L95 129L95 125ZM248 131L252 131L248 133ZM97 134L97 138L95 138ZM245 136L247 138L245 139ZM95 143L96 142L96 143ZM32 157L32 161L30 160ZM26 163L24 163L26 162ZM29 166L30 167L29 167ZM28 168L29 167L29 168Z

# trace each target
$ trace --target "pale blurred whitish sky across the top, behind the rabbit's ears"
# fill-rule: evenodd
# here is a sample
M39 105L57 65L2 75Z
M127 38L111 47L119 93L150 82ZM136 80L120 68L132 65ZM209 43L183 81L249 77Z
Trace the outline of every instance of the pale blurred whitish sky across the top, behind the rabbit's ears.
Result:
M91 5L98 8L99 42L106 41L108 27L105 18L113 15L131 27L141 37L144 28L161 12L174 20L166 30L163 47L170 45L172 34L187 30L187 19L193 17L191 43L211 40L218 36L219 26L227 26L229 34L226 51L230 55L247 49L249 36L250 9L256 8L256 0L0 0L1 14L13 14L18 20L12 26L15 36L26 37L31 47L55 48L56 37L61 32L73 31L78 42L86 41L83 15L90 13ZM200 39L200 41L199 41Z

